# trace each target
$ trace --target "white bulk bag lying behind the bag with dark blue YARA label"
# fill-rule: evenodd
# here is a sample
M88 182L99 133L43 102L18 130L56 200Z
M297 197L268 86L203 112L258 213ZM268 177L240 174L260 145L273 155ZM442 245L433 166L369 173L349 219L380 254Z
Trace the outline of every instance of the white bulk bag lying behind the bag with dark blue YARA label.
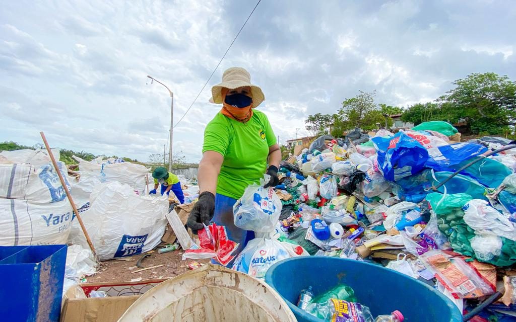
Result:
M79 173L98 177L102 182L118 181L130 185L141 195L145 191L146 176L149 169L141 164L131 162L114 163L114 159L100 161L99 158L88 162L76 156L79 161ZM100 163L99 163L100 162ZM149 176L149 180L152 178Z

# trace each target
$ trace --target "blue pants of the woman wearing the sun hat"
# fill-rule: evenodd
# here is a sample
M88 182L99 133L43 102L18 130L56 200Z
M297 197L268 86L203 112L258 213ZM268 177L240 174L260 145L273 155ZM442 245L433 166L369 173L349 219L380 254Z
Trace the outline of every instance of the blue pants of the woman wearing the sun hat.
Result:
M235 226L233 222L233 206L235 205L236 199L216 194L215 195L215 212L213 214L212 221L217 224L217 226L224 226L226 232L228 233L228 239L238 243L238 248L233 253L233 255L238 255L244 247L246 247L247 243L254 239L254 231L240 229ZM226 266L232 267L234 259L229 262ZM212 259L213 264L220 263L217 260Z

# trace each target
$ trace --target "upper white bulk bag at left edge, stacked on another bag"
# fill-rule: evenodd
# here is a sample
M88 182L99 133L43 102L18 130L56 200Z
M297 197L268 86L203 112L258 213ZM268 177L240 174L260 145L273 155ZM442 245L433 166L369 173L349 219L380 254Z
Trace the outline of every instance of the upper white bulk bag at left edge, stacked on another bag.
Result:
M65 163L58 161L59 172L70 188ZM39 168L33 164L0 164L0 198L25 199L34 204L49 204L67 198L52 163Z

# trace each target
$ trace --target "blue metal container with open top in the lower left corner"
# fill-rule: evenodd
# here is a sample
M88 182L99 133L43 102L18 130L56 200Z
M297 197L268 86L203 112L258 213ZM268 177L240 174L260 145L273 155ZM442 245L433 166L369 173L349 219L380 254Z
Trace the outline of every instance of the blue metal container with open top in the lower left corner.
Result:
M67 246L0 246L3 321L59 321Z

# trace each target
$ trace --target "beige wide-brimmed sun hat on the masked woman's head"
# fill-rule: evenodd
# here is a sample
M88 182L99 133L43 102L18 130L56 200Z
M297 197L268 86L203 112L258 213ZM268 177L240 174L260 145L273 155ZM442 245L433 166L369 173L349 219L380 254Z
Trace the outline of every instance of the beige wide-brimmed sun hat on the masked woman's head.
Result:
M251 84L251 75L242 67L230 67L222 74L222 82L212 87L211 103L222 104L222 88L233 90L239 87L251 87L251 95L253 97L252 108L259 106L265 99L262 89Z

